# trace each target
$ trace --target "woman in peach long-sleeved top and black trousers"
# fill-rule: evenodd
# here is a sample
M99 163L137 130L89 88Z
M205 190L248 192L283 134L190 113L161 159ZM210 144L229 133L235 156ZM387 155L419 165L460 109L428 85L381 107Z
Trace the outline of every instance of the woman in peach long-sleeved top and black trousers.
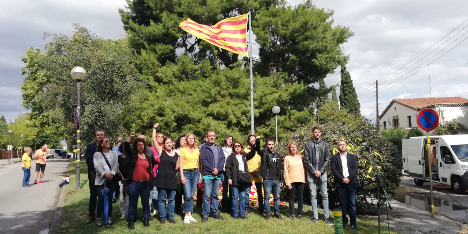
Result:
M285 169L285 184L289 190L289 211L291 216L289 219L295 219L294 216L294 198L297 196L297 208L299 212L299 219L303 220L304 217L302 207L304 206L304 185L306 184L306 163L304 157L298 154L299 146L296 142L291 141L288 144L288 155L284 160Z

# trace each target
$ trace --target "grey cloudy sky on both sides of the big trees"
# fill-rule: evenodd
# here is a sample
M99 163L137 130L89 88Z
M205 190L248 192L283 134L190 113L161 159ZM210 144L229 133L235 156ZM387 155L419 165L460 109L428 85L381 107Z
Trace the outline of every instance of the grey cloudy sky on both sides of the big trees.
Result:
M299 2L290 0L291 5ZM447 0L443 4L439 0L316 0L314 4L333 9L335 24L349 27L355 33L344 44L344 50L351 56L347 70L351 73L364 115L375 119L375 80L379 80L380 112L393 98L430 95L468 98L468 82L464 78L468 73L468 40L463 41L468 37L468 21L465 22L468 5L464 0ZM76 22L104 38L124 37L117 12L124 5L124 0L15 0L2 3L0 114L14 121L18 114L27 112L21 105L21 68L24 66L21 57L25 56L28 47L43 48L44 43L50 41L50 38L42 39L44 32L68 34L73 30L72 23ZM339 80L338 69L325 82L331 86Z

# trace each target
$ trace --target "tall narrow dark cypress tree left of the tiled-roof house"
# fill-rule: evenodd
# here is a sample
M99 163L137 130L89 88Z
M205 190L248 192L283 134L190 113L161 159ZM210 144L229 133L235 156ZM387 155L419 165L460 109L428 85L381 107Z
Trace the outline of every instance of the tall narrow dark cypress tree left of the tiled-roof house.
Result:
M341 66L340 106L354 115L360 115L361 105L358 95L351 80L351 75L346 71L346 66Z

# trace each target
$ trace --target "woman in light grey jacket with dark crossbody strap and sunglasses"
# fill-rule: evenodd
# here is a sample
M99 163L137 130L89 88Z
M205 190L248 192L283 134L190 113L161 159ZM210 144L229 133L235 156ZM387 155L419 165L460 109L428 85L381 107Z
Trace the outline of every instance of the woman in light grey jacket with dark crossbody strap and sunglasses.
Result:
M96 226L102 227L102 212L104 211L104 195L102 189L104 185L109 189L107 197L109 199L107 226L112 226L112 195L115 190L115 183L112 178L117 174L117 153L109 150L110 140L108 137L99 139L97 142L96 153L94 153L93 161L96 170L96 180L94 182L97 194L97 219ZM104 183L104 181L106 183Z

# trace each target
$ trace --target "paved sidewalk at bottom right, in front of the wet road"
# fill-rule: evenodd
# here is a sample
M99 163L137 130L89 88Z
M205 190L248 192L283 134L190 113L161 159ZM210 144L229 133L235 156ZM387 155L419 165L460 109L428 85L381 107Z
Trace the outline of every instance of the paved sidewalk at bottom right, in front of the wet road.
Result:
M468 227L436 214L420 210L404 203L391 201L393 211L388 211L390 227L400 234L468 234ZM386 212L380 212L380 221L387 223ZM387 233L387 229L381 229Z

